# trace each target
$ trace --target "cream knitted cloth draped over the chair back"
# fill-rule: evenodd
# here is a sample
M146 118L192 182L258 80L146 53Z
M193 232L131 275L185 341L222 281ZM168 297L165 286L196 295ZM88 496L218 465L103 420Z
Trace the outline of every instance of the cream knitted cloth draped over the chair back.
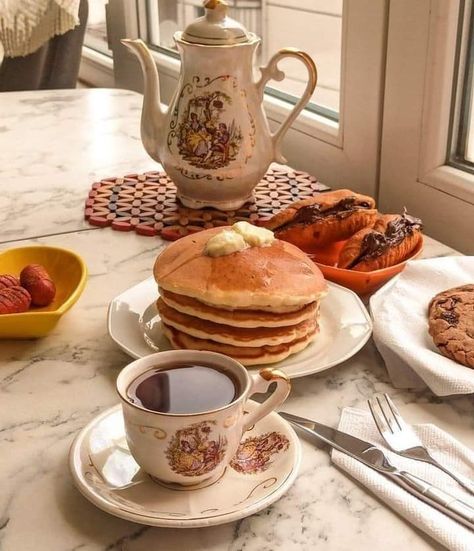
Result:
M0 42L6 57L35 52L79 24L80 0L0 0Z

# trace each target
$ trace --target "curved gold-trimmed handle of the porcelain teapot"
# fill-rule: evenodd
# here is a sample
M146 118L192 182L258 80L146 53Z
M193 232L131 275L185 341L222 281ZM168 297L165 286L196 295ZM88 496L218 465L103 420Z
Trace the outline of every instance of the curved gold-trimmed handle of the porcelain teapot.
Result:
M297 48L283 48L270 59L266 67L260 67L262 77L257 83L257 87L261 98L263 98L265 85L270 79L281 81L285 78L285 73L278 69L278 62L285 57L294 57L296 59L299 59L306 65L306 69L308 70L308 82L306 84L303 95L293 107L291 113L288 115L286 120L283 121L283 123L280 125L280 128L275 132L275 134L272 134L273 155L274 160L277 163L286 163L286 159L281 153L281 140L293 121L308 103L309 98L312 96L314 89L316 88L316 83L318 81L318 71L316 69L316 65L307 53L298 50Z

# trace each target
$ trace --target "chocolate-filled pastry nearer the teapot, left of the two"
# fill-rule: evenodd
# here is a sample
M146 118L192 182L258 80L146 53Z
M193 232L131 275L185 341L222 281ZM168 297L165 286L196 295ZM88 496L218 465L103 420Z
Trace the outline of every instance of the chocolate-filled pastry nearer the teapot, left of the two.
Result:
M273 230L278 239L314 250L372 226L376 217L372 197L338 189L297 201L261 225Z

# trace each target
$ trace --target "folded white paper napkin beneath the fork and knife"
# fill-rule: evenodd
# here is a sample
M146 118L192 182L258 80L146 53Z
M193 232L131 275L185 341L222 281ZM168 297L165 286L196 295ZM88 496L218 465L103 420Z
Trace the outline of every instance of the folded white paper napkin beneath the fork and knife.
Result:
M438 468L421 461L405 459L388 451L384 447L384 442L370 413L353 408L344 409L339 430L376 444L386 451L390 462L396 467L419 476L474 506L474 496L471 496L469 492ZM414 425L414 430L423 444L429 448L430 452L433 452L436 459L447 467L455 468L458 472L474 478L474 454L471 450L434 425ZM472 551L474 549L474 532L462 524L412 496L382 474L341 452L333 450L332 460L399 515L448 549L453 551ZM388 527L387 529L389 530Z

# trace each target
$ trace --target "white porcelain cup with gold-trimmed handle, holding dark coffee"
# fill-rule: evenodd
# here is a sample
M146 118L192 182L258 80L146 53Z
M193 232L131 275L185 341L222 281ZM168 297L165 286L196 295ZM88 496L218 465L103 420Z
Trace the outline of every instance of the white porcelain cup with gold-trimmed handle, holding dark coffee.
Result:
M133 403L130 384L151 369L176 363L217 366L238 382L239 392L223 407L197 413L162 413ZM256 392L273 393L260 406L245 413L245 404ZM168 484L210 484L222 476L232 461L242 434L277 408L288 396L290 382L276 369L249 374L237 361L214 352L172 350L158 352L127 365L117 378L122 399L125 432L137 463L152 477Z

